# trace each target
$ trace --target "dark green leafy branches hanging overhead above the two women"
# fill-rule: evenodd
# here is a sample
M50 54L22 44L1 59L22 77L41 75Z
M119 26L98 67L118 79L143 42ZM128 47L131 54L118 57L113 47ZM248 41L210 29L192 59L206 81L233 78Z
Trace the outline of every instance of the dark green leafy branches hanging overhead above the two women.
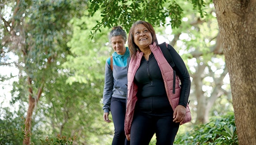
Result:
M189 0L195 9L203 16L204 0ZM128 32L131 24L137 20L144 20L154 25L166 24L169 17L173 28L181 25L183 10L175 0L89 0L89 12L93 16L101 11L102 20L92 29L91 38L102 27L111 28L113 25L122 25ZM153 11L152 11L153 10ZM109 17L111 16L111 17Z

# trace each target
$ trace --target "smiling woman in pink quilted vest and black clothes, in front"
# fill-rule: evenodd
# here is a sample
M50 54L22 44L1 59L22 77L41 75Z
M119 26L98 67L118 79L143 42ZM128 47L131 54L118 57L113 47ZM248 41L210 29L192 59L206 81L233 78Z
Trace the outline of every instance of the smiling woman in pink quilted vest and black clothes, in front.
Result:
M148 145L154 134L157 145L173 145L179 126L191 120L188 70L170 45L168 51L175 66L169 65L148 22L137 21L132 25L128 47L131 60L125 135L130 145Z

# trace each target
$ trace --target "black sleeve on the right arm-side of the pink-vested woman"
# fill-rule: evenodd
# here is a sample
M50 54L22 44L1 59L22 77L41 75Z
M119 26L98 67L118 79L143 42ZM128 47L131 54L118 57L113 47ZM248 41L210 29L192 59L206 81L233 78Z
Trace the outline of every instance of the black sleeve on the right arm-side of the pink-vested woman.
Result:
M188 97L189 97L190 87L191 87L191 81L190 81L188 69L186 68L186 65L183 59L177 53L177 51L175 51L175 49L171 45L168 45L168 47L169 47L169 52L173 58L173 62L175 64L175 67L173 69L176 71L177 76L179 76L181 80L181 94L180 94L179 105L183 105L184 107L187 107Z

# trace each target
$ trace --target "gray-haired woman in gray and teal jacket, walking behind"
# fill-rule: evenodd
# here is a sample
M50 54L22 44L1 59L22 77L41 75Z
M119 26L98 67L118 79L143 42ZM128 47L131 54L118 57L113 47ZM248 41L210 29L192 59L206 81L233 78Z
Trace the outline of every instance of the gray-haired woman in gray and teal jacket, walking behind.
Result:
M127 34L121 26L113 27L109 33L109 41L115 51L105 63L105 84L103 91L103 119L110 123L112 114L115 133L112 145L127 145L124 134L124 118L127 94L127 58L130 56L125 47Z

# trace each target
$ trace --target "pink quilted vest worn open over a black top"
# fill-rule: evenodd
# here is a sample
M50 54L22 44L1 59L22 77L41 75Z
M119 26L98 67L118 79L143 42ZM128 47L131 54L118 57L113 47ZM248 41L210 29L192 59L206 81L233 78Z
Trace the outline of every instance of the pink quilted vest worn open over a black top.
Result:
M180 98L180 79L178 76L176 76L176 81L175 81L175 94L173 94L173 69L169 65L169 63L166 61L166 58L162 54L162 51L160 47L158 47L155 43L150 45L151 52L154 54L154 57L156 61L158 62L158 66L162 72L162 77L165 83L166 87L166 93L169 99L169 103L172 106L173 110L177 107L179 103L179 98ZM128 94L127 94L127 109L126 109L126 115L125 115L125 122L124 122L124 130L125 134L128 135L130 134L131 131L131 125L132 125L132 119L133 119L133 114L134 114L134 108L135 104L137 101L137 91L138 87L134 83L134 76L139 68L141 58L143 56L143 52L137 52L136 57L131 57L129 68L128 68ZM184 119L184 123L190 122L191 121L191 112L190 109L187 105L186 108L186 116Z

